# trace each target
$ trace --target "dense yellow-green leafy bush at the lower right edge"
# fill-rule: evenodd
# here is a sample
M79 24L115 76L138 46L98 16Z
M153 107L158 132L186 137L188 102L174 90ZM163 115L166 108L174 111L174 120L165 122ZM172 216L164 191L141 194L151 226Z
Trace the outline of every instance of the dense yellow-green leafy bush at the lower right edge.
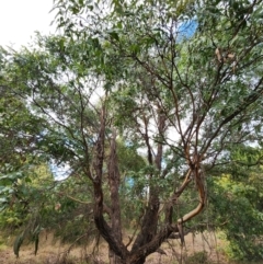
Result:
M236 260L262 260L262 168L248 169L242 163L244 159L256 159L259 153L258 149L254 149L253 156L251 148L247 150L247 158L243 152L239 167L236 167L239 170L233 175L225 174L210 182L209 195L215 223L230 241L227 249L229 256Z

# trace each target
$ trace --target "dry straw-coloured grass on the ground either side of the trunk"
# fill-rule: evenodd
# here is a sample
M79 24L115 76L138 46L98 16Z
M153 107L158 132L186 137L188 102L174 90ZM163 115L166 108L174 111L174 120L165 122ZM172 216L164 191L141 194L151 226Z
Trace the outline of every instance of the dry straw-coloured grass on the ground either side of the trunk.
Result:
M11 241L9 242L11 244ZM20 257L15 259L12 246L0 248L1 264L84 264L84 263L108 263L107 245L101 242L98 251L93 252L94 243L89 246L72 246L61 244L56 240L53 233L41 234L39 250L34 255L34 244L21 246ZM181 246L179 241L168 241L161 249L165 254L153 253L147 257L146 264L211 264L227 263L220 253L224 246L221 241L214 233L205 232L203 234L188 234L185 237L185 246ZM205 252L205 253L204 253ZM92 254L94 253L94 254ZM194 256L193 256L194 255ZM195 260L195 262L193 262ZM198 262L197 262L198 261Z

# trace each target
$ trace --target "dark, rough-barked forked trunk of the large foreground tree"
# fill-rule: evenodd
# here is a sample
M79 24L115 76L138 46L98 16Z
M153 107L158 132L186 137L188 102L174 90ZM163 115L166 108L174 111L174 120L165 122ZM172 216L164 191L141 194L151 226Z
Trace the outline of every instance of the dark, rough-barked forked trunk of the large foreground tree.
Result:
M160 135L163 134L164 120L159 116L159 131ZM105 140L105 112L102 111L101 116L101 128L100 135L95 146L95 156L93 161L94 174L90 174L90 179L93 182L94 187L94 222L101 236L106 240L110 246L110 263L111 264L144 264L146 257L151 253L156 252L159 246L162 244L165 239L173 232L178 232L182 239L183 223L192 219L197 215L204 207L205 202L205 190L204 183L201 177L198 162L201 159L191 160L190 170L185 175L185 181L182 183L182 186L174 192L170 197L170 202L167 204L167 209L164 208L164 215L167 222L163 223L162 228L158 230L158 218L160 209L159 200L159 186L151 185L149 192L148 206L145 211L145 216L141 222L141 229L138 233L135 242L132 246L132 250L128 251L127 246L123 242L122 238L122 221L121 221L121 203L118 196L119 188L119 172L118 172L118 161L116 156L116 135L113 131L113 138L111 141L111 152L110 159L107 159L107 179L108 187L111 193L111 206L110 206L110 217L111 221L107 222L103 216L103 171L105 165L105 154L104 154L104 140ZM145 134L146 146L148 149L148 162L151 165L155 165L159 172L161 172L161 160L162 160L162 145L158 144L157 153L153 157L153 151L150 146L149 136ZM90 171L89 171L90 172ZM193 175L194 177L191 177ZM163 175L160 174L149 174L149 177L158 176L160 180L163 179ZM183 193L188 183L195 180L196 186L199 193L199 204L195 209L180 218L178 222L172 222L172 207L176 203L180 195ZM180 227L180 229L179 229Z

